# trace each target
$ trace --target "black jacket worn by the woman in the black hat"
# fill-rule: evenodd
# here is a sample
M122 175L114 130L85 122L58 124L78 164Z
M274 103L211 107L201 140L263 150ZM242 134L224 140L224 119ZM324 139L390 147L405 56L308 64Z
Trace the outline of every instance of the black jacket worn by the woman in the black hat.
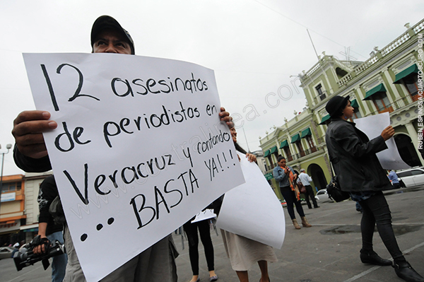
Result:
M376 153L387 149L382 136L368 139L355 123L332 119L325 136L334 172L343 191L393 189Z

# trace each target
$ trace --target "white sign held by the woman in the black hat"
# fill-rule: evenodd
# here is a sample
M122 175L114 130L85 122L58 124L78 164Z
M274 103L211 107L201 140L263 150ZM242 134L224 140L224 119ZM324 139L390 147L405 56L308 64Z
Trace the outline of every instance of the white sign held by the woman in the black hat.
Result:
M355 124L360 131L367 134L370 140L375 139L375 137L382 133L383 129L390 125L389 113L384 112L382 114L355 119ZM384 169L401 170L403 168L410 168L410 166L402 160L401 155L399 155L394 138L387 140L386 145L388 147L387 150L377 153L377 158Z

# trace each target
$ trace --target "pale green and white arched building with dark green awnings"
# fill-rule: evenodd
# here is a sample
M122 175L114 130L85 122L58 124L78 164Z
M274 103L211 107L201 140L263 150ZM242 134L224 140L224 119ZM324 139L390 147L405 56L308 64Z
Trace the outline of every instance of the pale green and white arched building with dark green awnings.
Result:
M423 165L423 30L424 20L382 49L375 47L366 61L341 61L324 52L317 64L300 74L307 107L294 119L260 140L272 172L278 155L295 170L305 168L313 187L324 189L331 179L325 144L329 115L325 105L334 95L351 98L355 117L389 112L401 158L411 167ZM275 180L273 180L275 182ZM279 192L277 194L279 195Z

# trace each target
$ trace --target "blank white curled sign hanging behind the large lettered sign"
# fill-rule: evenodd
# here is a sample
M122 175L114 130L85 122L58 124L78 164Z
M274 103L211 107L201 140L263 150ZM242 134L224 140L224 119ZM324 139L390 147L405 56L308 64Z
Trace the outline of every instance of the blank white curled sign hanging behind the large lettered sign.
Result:
M225 193L218 228L281 249L285 237L283 207L256 163L240 154L245 184Z

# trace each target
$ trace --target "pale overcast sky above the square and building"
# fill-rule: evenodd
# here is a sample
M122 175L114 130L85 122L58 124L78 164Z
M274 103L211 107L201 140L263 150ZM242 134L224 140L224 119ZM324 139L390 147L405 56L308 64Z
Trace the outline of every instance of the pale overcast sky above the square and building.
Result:
M259 136L305 107L295 76L318 54L365 61L424 15L422 0L167 0L0 1L0 153L14 143L13 119L35 109L23 52L90 52L90 29L101 15L116 18L134 39L136 54L179 59L216 74L221 105L240 114L238 139L259 150ZM265 97L283 86L293 97L270 108ZM290 89L290 90L289 90ZM252 110L259 116L255 117ZM250 112L250 114L249 114ZM239 116L239 117L240 117ZM253 119L253 120L252 120ZM243 123L242 123L243 122ZM23 173L4 158L4 175Z

